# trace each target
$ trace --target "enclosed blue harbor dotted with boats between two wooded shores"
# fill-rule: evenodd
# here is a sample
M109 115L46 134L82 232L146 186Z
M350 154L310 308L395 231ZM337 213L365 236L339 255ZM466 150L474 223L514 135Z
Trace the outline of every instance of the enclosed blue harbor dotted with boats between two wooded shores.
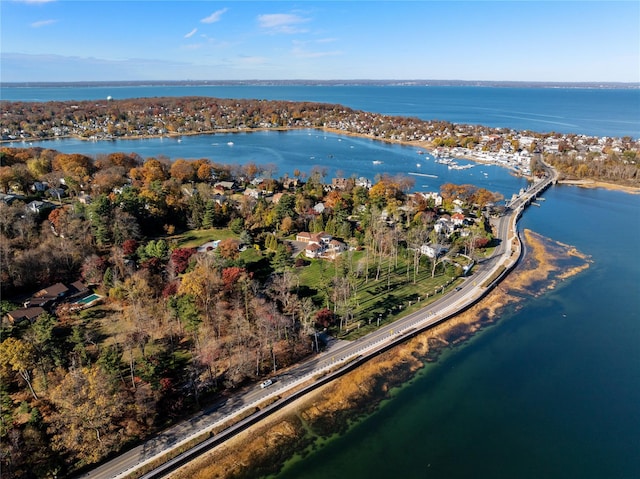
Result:
M179 141L175 138L115 141L61 139L28 142L25 145L92 156L123 151L136 152L143 158L209 158L231 165L253 162L264 166L275 177L293 177L296 169L306 174L320 169L326 173L326 181L336 175L345 178L364 176L375 181L378 175L402 174L410 176L415 181L414 189L419 191L438 191L443 183L472 183L499 191L506 198L527 185L525 179L516 178L505 168L495 165L458 160L460 165L475 166L466 170L450 170L447 165L436 163L431 155L424 152L418 154L418 148L315 130L195 135L182 137Z

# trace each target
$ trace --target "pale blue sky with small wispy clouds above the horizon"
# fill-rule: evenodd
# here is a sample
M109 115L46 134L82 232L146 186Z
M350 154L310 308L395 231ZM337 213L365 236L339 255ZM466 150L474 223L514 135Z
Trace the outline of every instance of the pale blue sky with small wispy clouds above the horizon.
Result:
M0 0L1 81L640 82L640 2Z

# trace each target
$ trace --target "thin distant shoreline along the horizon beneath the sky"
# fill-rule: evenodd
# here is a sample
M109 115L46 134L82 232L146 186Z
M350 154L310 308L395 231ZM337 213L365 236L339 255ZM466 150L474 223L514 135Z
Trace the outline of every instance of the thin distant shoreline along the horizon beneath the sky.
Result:
M124 87L124 86L451 86L493 88L588 88L640 89L637 82L543 82L543 81L487 81L487 80L135 80L135 81L24 81L0 82L0 88L65 88L65 87Z

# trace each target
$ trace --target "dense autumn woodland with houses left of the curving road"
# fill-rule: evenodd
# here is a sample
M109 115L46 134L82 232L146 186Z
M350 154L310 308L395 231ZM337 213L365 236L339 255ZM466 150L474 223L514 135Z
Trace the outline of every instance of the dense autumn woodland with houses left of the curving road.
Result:
M500 196L483 188L267 168L0 149L3 477L68 475L317 352L317 331L366 324L366 284L460 274L425 243L490 244L481 213ZM339 238L345 259L297 255L300 232ZM305 282L314 265L324 282Z

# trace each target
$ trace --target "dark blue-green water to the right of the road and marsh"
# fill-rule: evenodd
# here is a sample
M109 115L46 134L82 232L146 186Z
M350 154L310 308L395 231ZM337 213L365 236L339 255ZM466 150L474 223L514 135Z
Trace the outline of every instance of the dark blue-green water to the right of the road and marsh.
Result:
M278 478L640 477L638 197L545 197L522 226L578 246L592 267L449 351Z

